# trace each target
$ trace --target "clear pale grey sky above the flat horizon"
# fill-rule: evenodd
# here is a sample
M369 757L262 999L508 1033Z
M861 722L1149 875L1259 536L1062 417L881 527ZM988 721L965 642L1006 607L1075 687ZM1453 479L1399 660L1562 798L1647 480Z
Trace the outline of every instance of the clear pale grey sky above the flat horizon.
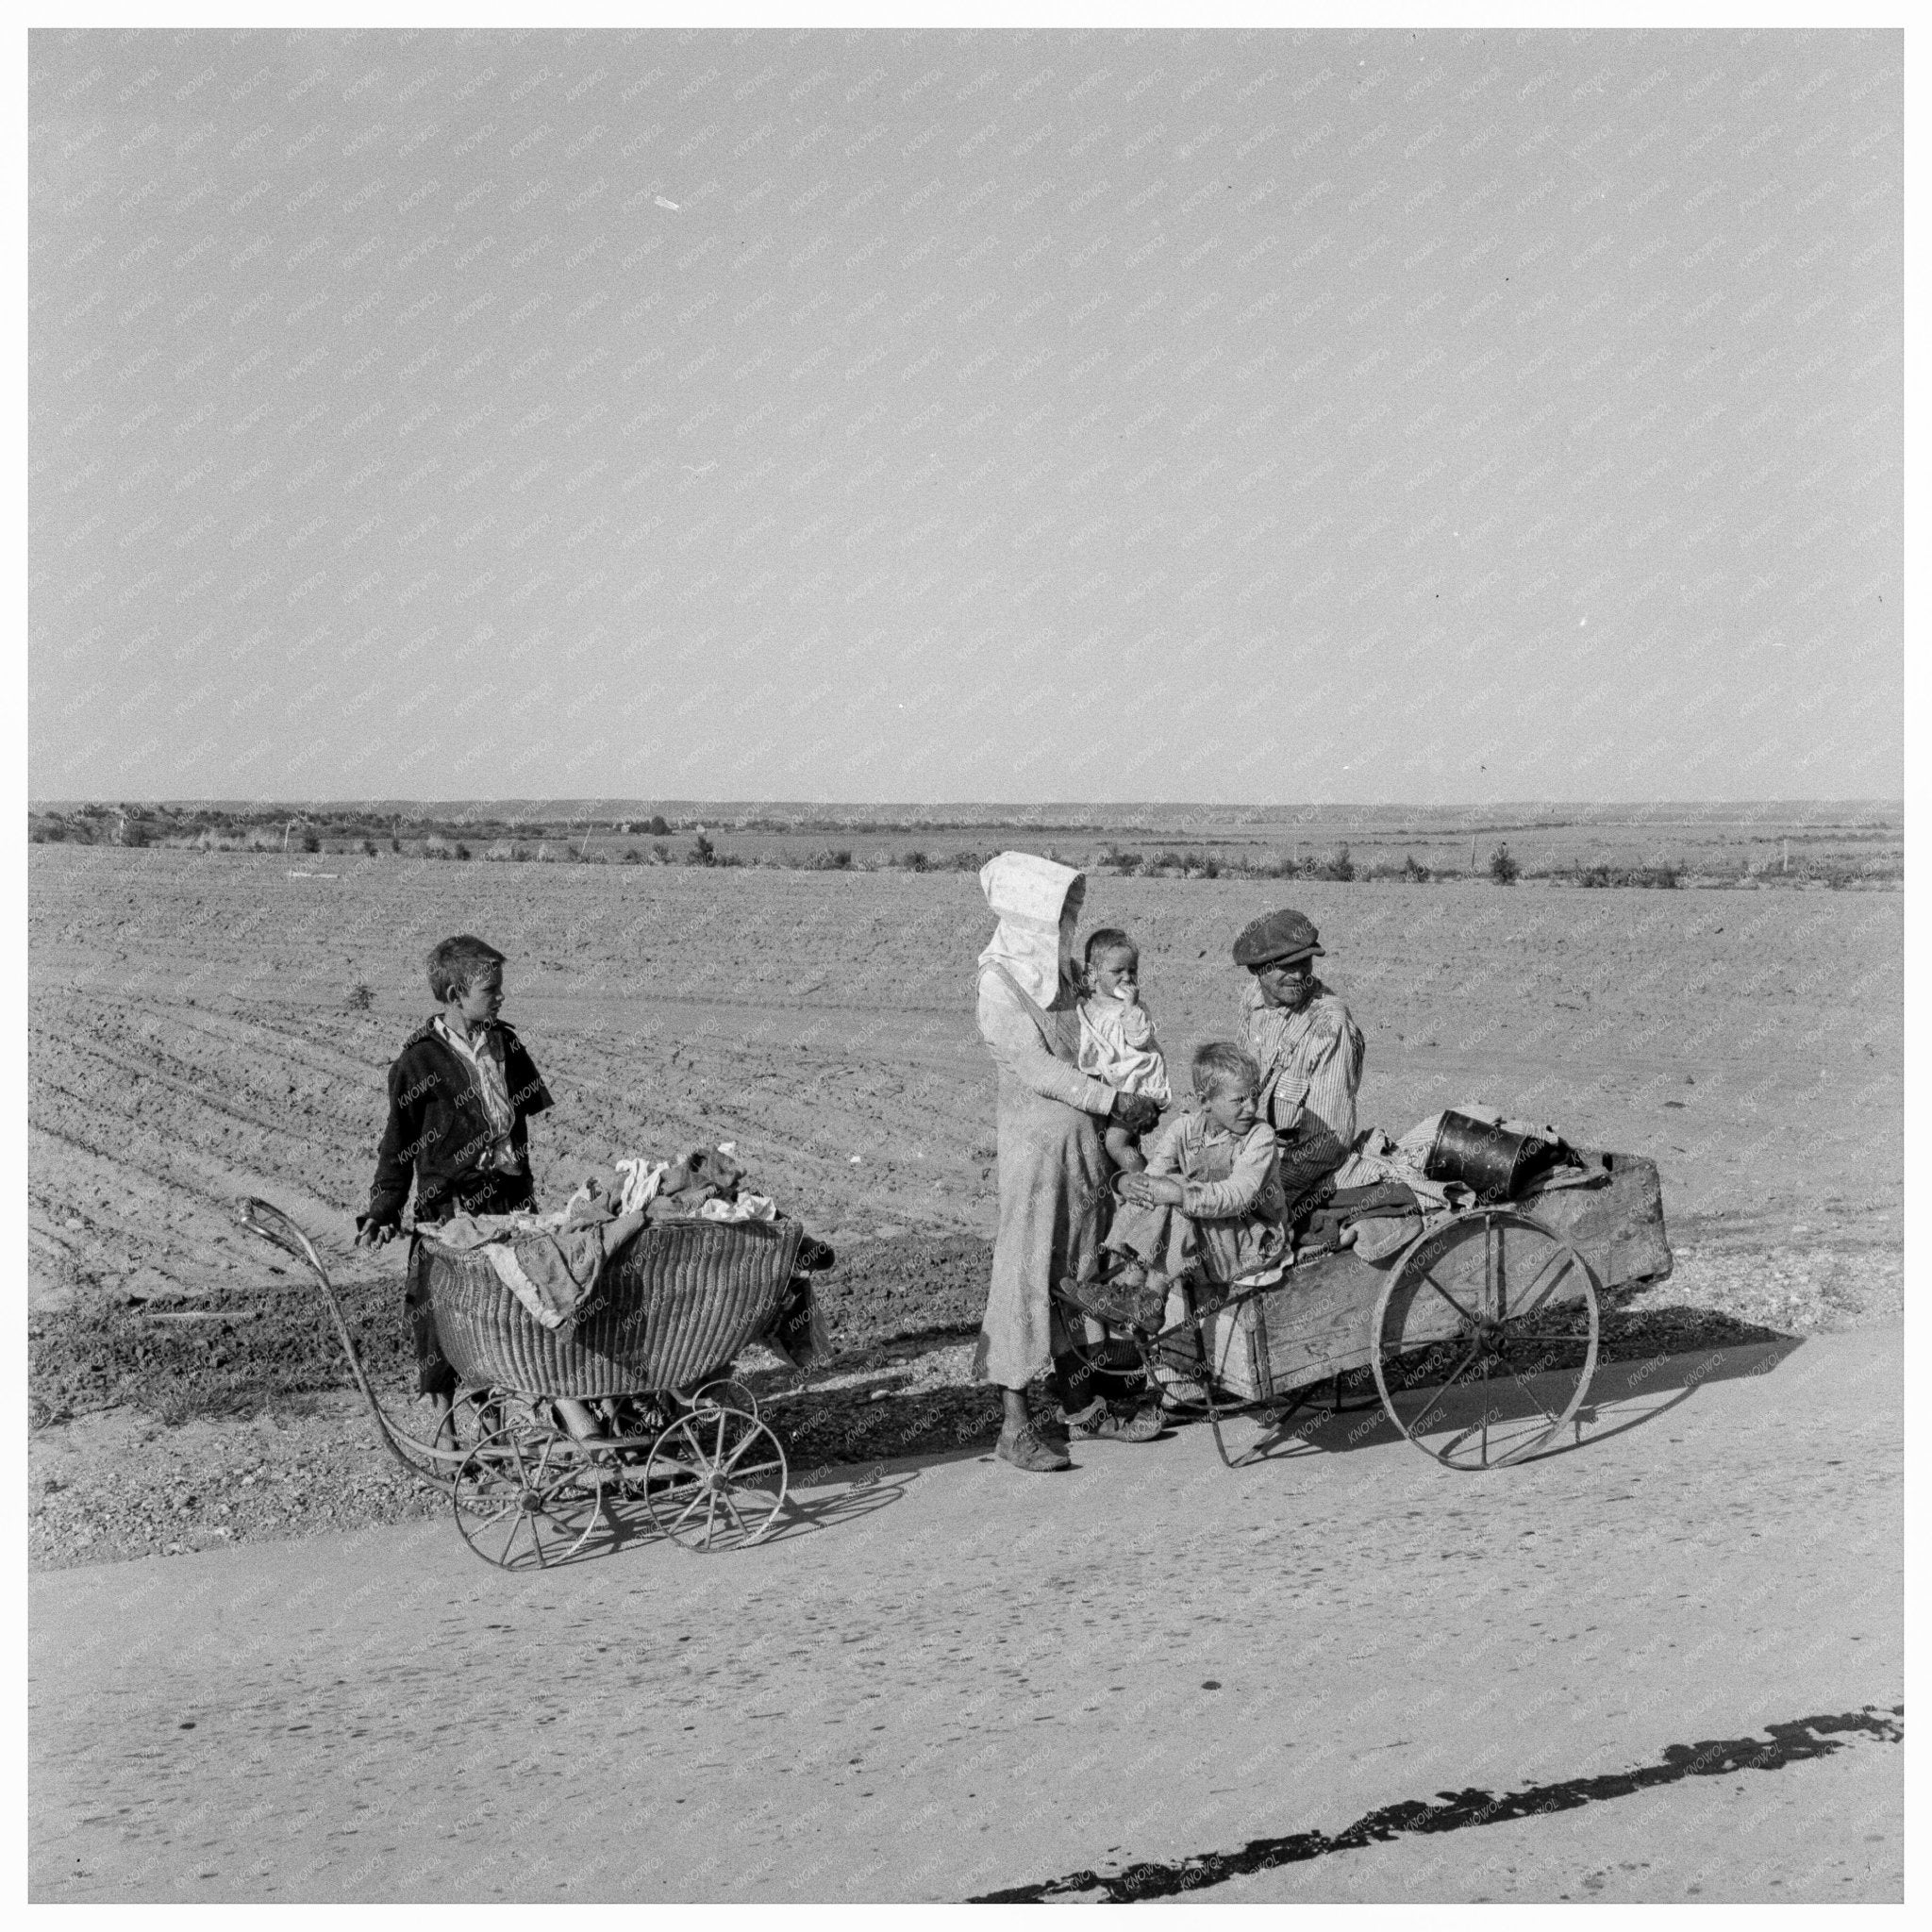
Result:
M1903 790L1895 31L29 79L35 796Z

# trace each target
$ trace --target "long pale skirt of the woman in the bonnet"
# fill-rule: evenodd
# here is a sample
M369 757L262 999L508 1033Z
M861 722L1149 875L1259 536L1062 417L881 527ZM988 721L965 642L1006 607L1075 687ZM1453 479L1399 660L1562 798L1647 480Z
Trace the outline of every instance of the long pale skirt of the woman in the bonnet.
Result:
M1107 1209L1094 1115L999 1076L999 1236L974 1379L1022 1389L1065 1349L1051 1287L1092 1275Z

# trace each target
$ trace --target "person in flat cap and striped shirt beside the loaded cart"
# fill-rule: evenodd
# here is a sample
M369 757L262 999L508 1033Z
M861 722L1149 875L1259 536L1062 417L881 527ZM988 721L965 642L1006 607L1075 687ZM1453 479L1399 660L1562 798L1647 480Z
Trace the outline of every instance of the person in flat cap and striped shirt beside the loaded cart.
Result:
M1235 964L1250 976L1238 1037L1262 1068L1260 1107L1281 1146L1291 1219L1349 1157L1366 1051L1362 1028L1316 978L1318 958L1325 958L1321 935L1287 906L1235 941Z

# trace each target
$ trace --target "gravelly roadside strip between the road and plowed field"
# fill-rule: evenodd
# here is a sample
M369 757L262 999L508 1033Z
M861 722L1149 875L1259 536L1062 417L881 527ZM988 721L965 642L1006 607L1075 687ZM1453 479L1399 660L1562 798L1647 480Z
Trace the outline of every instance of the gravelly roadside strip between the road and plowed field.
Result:
M746 1356L744 1379L781 1428L798 1476L991 1447L997 1401L970 1381L978 1246L908 1254L879 1244L877 1254L854 1254L827 1296L844 1347L806 1389L763 1350ZM1762 1227L1712 1221L1687 1225L1675 1250L1671 1279L1605 1318L1607 1358L1862 1327L1903 1308L1903 1250L1889 1225L1866 1238L1843 1225L1801 1227L1766 1246ZM887 1271L891 1291L873 1293L869 1277ZM410 1414L406 1395L381 1393L398 1418ZM423 1414L415 1410L417 1422ZM27 1484L35 1569L185 1555L448 1509L388 1459L348 1389L176 1426L133 1403L77 1414L31 1432Z

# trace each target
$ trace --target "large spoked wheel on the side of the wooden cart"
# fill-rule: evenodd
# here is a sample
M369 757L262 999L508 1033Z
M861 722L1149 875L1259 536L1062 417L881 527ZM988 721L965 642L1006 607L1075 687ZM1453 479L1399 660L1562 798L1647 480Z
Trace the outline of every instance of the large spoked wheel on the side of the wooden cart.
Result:
M1370 1327L1389 1420L1447 1468L1501 1468L1557 1447L1596 1372L1596 1275L1577 1246L1511 1208L1424 1235L1391 1269Z

